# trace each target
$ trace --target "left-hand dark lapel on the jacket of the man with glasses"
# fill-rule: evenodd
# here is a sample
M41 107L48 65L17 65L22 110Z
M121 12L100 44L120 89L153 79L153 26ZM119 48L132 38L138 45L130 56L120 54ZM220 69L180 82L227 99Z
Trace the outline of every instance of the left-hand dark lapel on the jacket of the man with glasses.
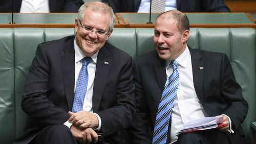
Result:
M69 106L69 110L72 110L74 99L74 86L75 86L75 50L74 50L74 38L67 41L64 47L61 57L61 66L63 71L63 82L66 93L66 98Z

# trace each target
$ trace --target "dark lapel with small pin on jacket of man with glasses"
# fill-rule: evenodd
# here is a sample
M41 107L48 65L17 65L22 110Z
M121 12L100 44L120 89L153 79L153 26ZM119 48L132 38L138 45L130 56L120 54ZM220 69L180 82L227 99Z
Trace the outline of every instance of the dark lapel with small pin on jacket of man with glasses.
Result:
M110 53L108 52L108 50L106 50L105 46L103 46L100 49L97 57L97 65L93 86L93 112L98 111L106 78L108 77L110 71L111 58L109 58L109 56Z

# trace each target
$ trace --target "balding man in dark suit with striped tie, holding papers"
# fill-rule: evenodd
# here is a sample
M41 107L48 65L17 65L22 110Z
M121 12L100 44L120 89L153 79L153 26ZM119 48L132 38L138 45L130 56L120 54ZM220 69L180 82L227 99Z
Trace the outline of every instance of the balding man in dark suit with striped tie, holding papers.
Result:
M131 139L134 143L244 143L241 123L246 117L248 105L227 56L191 49L186 44L188 36L189 21L184 13L172 10L157 18L154 34L156 50L137 57L134 62L138 113L130 131ZM176 79L172 79L173 75ZM173 101L165 102L170 97L162 95L170 86L165 84L167 81L173 82L170 85L177 83L166 92L170 95L174 93ZM159 118L162 110L159 107L163 102L166 106L173 104L166 110L171 111L165 115L167 123ZM222 116L223 126L177 134L184 128L184 123L208 116ZM160 123L166 124L161 127L163 129L155 127ZM163 139L154 142L158 133L163 133L159 138Z

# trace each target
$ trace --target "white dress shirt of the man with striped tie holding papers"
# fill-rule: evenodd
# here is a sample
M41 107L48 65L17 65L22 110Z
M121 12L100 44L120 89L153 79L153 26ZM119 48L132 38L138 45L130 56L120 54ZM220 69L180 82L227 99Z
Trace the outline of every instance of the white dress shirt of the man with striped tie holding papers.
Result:
M184 123L208 116L198 99L194 87L191 55L187 46L176 61L178 62L179 85L172 112L170 143L177 141L177 132L184 128ZM173 68L169 63L170 61L166 61L166 79L173 73ZM231 129L230 118L229 124Z

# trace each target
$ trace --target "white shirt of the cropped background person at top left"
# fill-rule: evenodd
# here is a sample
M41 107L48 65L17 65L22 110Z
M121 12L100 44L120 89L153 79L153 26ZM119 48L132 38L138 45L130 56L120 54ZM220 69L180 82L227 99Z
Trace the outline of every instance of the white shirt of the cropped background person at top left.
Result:
M49 13L48 0L22 0L20 13Z

